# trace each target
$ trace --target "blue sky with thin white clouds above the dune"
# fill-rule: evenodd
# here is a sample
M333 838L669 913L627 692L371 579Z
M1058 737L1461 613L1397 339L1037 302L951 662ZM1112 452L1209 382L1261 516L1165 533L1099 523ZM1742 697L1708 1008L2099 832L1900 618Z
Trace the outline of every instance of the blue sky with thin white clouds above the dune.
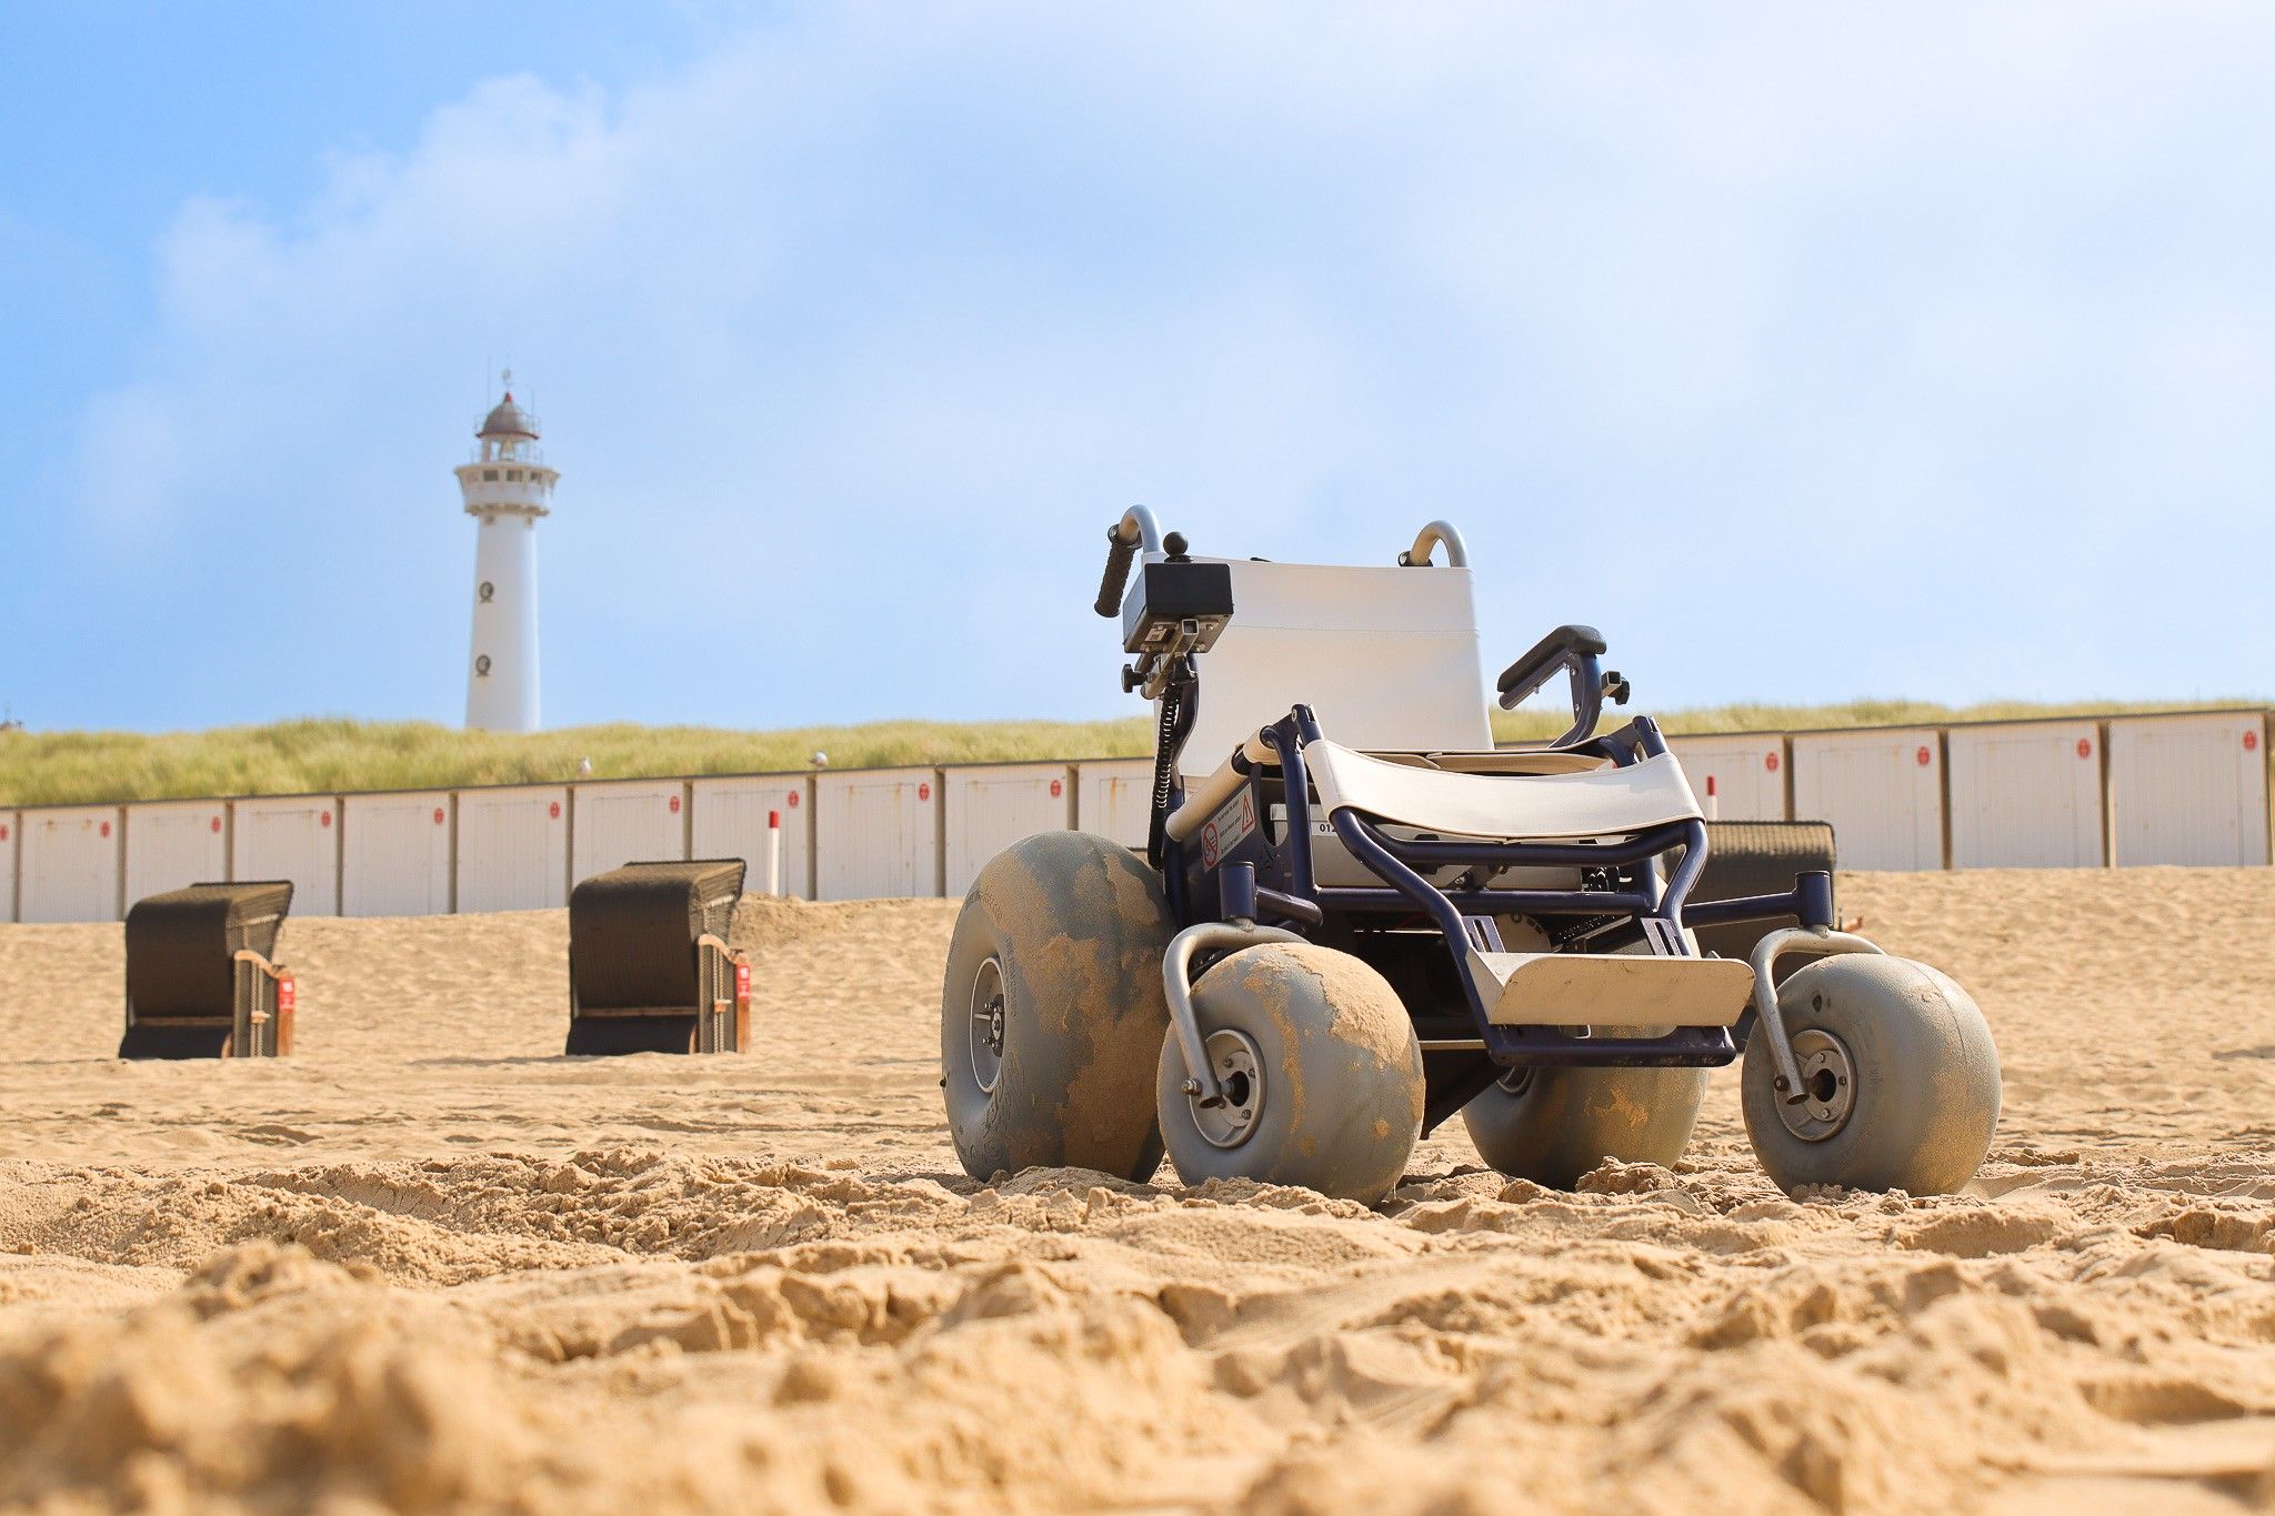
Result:
M478 18L478 25L475 25ZM0 0L0 700L1126 707L1133 500L1652 705L2275 691L2275 11Z

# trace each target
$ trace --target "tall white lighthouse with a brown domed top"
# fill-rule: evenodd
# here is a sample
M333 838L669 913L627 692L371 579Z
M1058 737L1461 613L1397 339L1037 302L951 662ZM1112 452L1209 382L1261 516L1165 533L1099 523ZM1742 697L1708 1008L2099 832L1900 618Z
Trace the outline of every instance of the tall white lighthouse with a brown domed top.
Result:
M553 511L553 482L537 450L537 418L505 398L473 434L473 461L457 466L466 514L480 520L473 548L473 652L466 664L466 725L475 732L537 730L537 520Z

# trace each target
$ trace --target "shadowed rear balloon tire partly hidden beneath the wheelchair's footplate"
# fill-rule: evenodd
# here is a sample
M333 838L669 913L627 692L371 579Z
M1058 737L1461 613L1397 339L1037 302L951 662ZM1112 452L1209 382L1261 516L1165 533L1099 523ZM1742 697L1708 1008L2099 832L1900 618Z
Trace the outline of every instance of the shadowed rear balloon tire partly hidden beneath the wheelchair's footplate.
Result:
M1527 1068L1461 1109L1476 1155L1513 1180L1572 1189L1604 1159L1672 1166L1706 1068Z

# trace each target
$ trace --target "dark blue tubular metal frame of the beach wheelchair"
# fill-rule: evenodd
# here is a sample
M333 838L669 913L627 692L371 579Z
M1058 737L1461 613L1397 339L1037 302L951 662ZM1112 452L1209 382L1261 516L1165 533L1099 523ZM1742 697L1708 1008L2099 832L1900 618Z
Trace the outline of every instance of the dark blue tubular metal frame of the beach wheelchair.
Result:
M1374 821L1345 807L1329 816L1335 836L1349 848L1383 889L1322 886L1310 857L1313 805L1310 777L1304 764L1306 743L1322 741L1310 707L1294 707L1285 718L1260 732L1279 757L1279 773L1249 766L1235 757L1249 780L1249 802L1256 807L1256 832L1226 850L1215 864L1201 861L1178 841L1165 839L1163 875L1178 925L1224 921L1256 914L1279 918L1299 932L1347 927L1363 916L1422 916L1440 934L1463 986L1470 1027L1492 1064L1504 1068L1561 1066L1720 1066L1738 1057L1738 1043L1727 1027L1677 1027L1668 1036L1615 1039L1592 1036L1586 1027L1504 1027L1488 1021L1488 1007L1467 968L1472 943L1497 948L1492 916L1583 918L1588 934L1640 932L1652 952L1690 955L1686 925L1720 925L1734 921L1800 918L1802 925L1831 923L1831 877L1802 875L1781 896L1749 896L1690 905L1690 891L1706 868L1706 823L1684 821L1652 827L1622 843L1488 843L1488 841L1406 841L1388 836ZM1647 716L1606 736L1558 743L1565 752L1604 757L1627 768L1668 752L1658 725ZM1281 791L1285 823L1272 839L1272 796ZM1181 796L1178 796L1181 798ZM1665 886L1656 859L1681 852ZM1583 889L1440 889L1417 868L1472 864L1479 868L1583 868L1595 871L1595 886ZM1622 921L1624 918L1624 921ZM1590 925L1595 923L1595 925ZM1424 1007L1408 1005L1417 1018Z

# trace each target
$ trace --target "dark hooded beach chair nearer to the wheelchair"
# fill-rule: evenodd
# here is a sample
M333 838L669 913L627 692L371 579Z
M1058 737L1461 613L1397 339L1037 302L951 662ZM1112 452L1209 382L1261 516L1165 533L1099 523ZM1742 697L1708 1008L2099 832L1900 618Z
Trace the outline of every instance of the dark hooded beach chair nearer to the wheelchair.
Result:
M569 893L569 1052L733 1052L742 859L626 864Z

